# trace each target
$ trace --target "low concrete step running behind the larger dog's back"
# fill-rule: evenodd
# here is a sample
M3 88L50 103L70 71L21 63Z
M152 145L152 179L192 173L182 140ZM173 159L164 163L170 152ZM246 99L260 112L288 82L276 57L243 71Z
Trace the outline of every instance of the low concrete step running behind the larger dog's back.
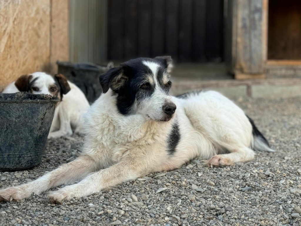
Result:
M172 95L178 95L196 89L216 90L229 98L251 97L279 99L301 97L301 78L254 80L172 78Z

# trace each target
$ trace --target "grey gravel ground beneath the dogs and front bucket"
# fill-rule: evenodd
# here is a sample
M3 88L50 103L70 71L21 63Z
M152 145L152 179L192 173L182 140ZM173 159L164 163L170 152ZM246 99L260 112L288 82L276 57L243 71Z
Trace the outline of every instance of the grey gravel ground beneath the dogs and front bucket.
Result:
M237 100L277 153L208 168L194 159L62 205L46 195L0 204L2 225L300 225L301 100ZM48 140L42 163L1 172L0 187L18 185L72 161L83 138Z

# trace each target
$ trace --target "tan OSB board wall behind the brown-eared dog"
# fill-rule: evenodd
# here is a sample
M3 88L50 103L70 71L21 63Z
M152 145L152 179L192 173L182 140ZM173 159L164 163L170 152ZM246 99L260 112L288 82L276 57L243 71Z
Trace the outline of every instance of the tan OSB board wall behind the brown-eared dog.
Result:
M54 72L57 59L68 59L68 2L0 1L0 91L22 74Z

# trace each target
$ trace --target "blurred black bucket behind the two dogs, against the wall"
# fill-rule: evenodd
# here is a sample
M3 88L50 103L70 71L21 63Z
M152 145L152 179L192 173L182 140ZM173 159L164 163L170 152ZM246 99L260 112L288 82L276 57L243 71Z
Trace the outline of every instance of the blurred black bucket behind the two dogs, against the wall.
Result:
M107 66L101 66L93 63L72 64L70 62L57 61L57 66L58 73L63 74L70 82L76 84L91 104L102 93L99 76L112 68L114 64L109 62Z

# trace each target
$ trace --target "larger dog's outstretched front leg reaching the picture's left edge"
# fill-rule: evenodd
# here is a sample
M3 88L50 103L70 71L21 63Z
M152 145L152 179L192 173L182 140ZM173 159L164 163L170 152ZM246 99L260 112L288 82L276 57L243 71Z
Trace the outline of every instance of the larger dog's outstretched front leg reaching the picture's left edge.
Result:
M21 200L32 193L40 194L61 184L71 184L97 169L97 162L88 155L82 155L72 162L61 165L42 177L17 187L0 190L0 201Z

